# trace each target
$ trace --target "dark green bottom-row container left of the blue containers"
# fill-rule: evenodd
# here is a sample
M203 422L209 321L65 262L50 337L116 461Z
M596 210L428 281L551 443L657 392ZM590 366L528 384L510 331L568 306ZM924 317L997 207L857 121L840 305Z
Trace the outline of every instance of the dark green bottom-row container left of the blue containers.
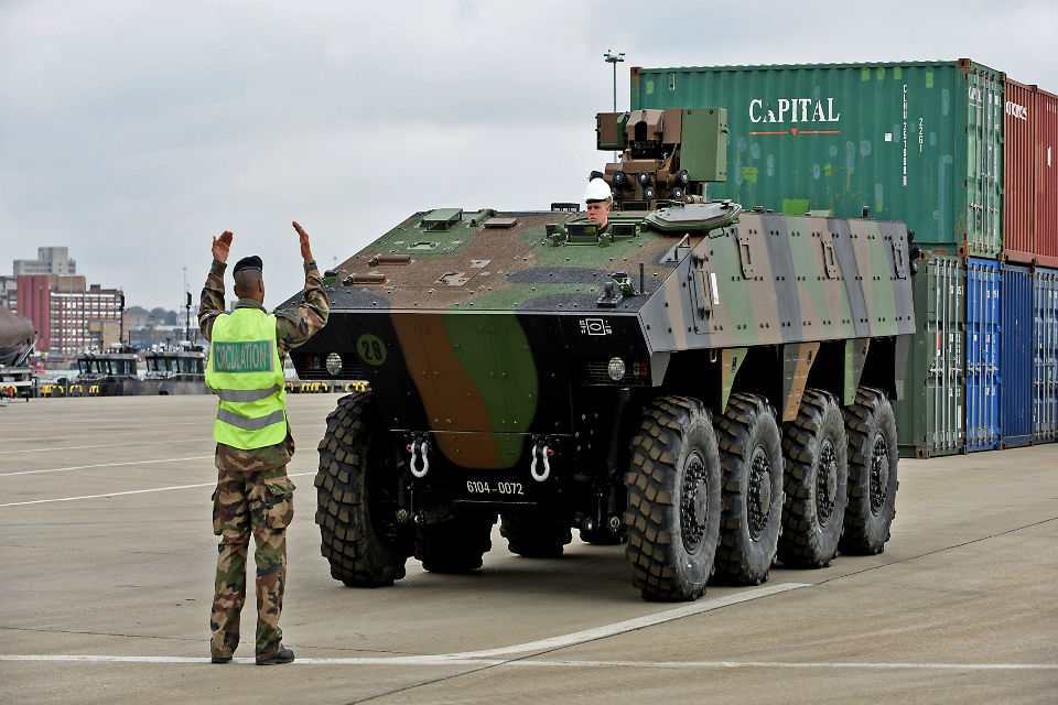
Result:
M895 408L899 453L919 458L965 453L965 260L932 254L919 262L913 282L918 333L906 393Z

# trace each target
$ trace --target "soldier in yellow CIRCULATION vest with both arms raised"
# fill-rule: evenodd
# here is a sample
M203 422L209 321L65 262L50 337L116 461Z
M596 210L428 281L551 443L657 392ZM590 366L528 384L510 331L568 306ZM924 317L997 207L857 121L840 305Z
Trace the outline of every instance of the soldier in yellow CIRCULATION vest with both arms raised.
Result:
M214 663L227 663L239 644L239 615L246 601L246 558L253 534L257 564L258 665L290 663L294 652L282 644L279 616L287 579L287 527L294 516L294 485L287 464L294 440L283 406L283 360L327 323L330 303L298 225L305 267L302 303L264 311L263 264L257 256L234 270L239 297L225 313L224 270L231 232L213 238L213 265L202 290L198 324L209 340L206 384L219 397L213 437L217 442L217 489L213 494L213 531L222 536L216 593L209 628Z

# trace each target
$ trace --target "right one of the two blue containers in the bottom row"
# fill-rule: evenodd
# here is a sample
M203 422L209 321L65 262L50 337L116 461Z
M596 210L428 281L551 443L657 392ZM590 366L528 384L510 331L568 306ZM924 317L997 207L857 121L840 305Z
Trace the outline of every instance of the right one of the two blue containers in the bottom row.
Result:
M1003 265L1000 295L1001 441L1004 448L1033 442L1033 269Z

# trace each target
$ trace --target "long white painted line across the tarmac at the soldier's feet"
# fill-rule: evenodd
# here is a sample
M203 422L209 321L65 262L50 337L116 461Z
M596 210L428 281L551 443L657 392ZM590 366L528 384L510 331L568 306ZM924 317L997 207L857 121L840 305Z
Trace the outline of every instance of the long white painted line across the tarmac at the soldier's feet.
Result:
M295 665L440 665L440 666L536 666L573 669L802 669L855 671L1058 671L1058 663L857 663L850 661L572 661L537 659L517 661L504 659L453 659L454 654L423 657L354 657L347 659L296 658ZM144 663L144 664L209 664L209 657L122 657L82 654L0 654L0 661L35 661L50 663ZM253 664L253 659L236 658L231 663Z

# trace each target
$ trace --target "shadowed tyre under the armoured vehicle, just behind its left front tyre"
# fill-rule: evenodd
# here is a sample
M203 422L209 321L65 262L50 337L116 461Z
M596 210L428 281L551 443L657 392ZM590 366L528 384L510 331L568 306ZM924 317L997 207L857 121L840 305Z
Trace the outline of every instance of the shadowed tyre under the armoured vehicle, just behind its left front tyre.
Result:
M469 573L482 567L482 556L493 547L496 517L460 514L454 519L419 527L415 557L431 573Z

